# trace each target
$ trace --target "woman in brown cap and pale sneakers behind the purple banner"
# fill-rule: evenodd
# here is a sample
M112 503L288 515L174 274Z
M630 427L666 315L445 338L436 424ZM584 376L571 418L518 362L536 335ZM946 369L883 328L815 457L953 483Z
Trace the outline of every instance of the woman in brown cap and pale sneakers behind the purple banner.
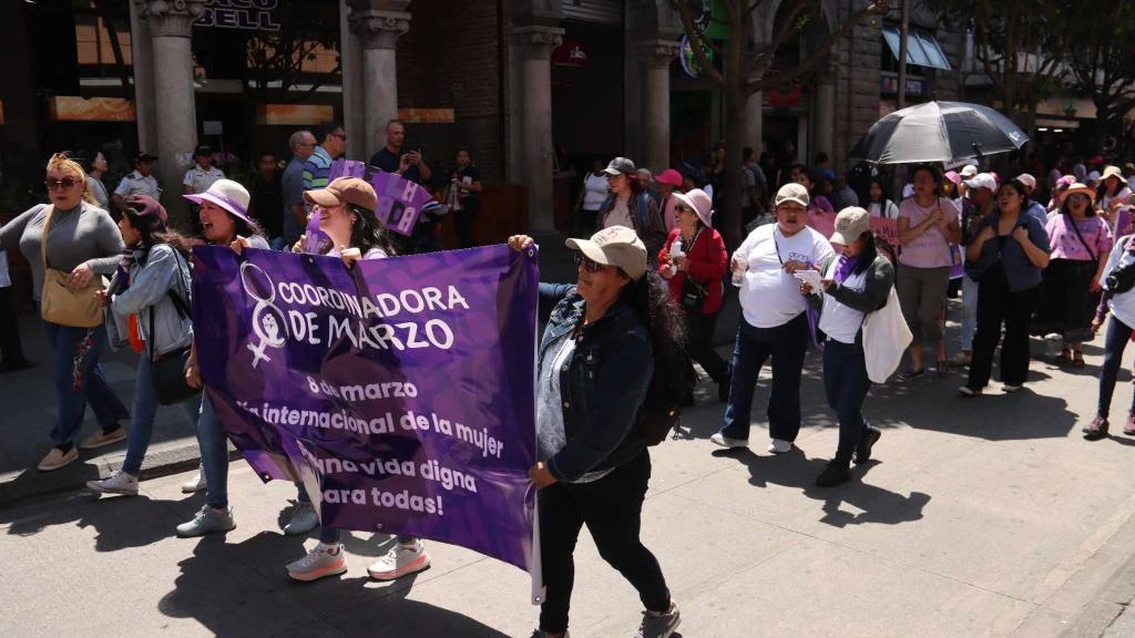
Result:
M386 229L375 215L378 196L369 183L358 177L339 177L327 188L305 192L303 199L312 207L311 215L317 216L319 229L329 240L322 254L343 259L348 268L360 259L385 259L394 254ZM317 242L305 243L309 250L318 246ZM311 498L302 485L299 487L300 509L314 515ZM311 581L346 572L340 538L337 528L320 527L319 544L306 556L289 563L287 574L294 580ZM420 539L400 535L397 545L368 568L367 573L376 580L394 580L429 568L429 562Z

